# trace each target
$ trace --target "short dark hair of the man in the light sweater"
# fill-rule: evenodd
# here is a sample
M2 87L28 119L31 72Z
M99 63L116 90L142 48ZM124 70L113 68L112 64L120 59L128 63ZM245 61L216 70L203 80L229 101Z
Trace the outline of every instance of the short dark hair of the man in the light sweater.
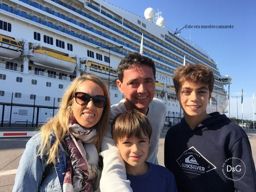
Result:
M154 77L156 76L156 67L154 61L146 56L140 55L138 52L130 53L126 57L122 58L117 67L118 79L122 82L124 77L124 70L128 70L131 66L147 65L152 68Z

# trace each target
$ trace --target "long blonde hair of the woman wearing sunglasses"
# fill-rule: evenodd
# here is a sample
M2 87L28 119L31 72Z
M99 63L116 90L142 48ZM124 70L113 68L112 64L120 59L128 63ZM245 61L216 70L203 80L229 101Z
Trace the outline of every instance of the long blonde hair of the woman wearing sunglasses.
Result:
M41 145L38 149L38 155L41 153L46 154L48 156L47 164L48 163L56 163L55 159L58 159L58 146L61 145L61 142L64 141L64 138L69 135L69 117L73 115L72 112L72 101L73 96L76 92L76 89L79 85L84 81L93 81L94 83L98 84L103 92L104 96L106 96L107 102L103 109L102 116L99 122L96 124L97 134L94 140L94 144L97 148L97 151L100 151L100 146L102 143L102 139L107 131L107 125L110 115L110 96L108 93L108 88L106 87L105 83L99 79L97 76L93 75L82 75L74 79L74 81L67 87L67 90L64 93L64 96L61 99L61 103L59 106L58 113L52 119L50 119L45 125L41 127ZM53 143L52 147L50 148L50 141L49 136L51 133L54 133L56 140ZM59 159L58 159L59 160Z

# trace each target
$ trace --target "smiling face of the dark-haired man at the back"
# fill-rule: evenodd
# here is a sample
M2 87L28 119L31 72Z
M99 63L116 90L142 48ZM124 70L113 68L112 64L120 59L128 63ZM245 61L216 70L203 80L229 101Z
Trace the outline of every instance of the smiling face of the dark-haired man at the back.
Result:
M123 81L117 80L116 84L125 96L126 108L146 114L154 98L155 78L152 68L147 65L131 66L124 70Z

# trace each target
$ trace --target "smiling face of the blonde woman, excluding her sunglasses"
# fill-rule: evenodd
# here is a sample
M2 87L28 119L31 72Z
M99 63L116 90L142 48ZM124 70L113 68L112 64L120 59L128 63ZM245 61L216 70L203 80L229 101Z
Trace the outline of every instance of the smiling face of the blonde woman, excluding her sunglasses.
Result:
M87 80L83 81L76 89L76 92L83 92L87 93L90 96L96 96L96 95L103 95L104 92L102 88L94 83L93 81ZM102 116L104 108L97 108L93 104L93 100L90 99L90 102L88 102L86 105L79 105L76 102L76 99L73 98L72 101L72 111L73 116L75 117L76 121L85 128L90 128L99 122L99 119Z

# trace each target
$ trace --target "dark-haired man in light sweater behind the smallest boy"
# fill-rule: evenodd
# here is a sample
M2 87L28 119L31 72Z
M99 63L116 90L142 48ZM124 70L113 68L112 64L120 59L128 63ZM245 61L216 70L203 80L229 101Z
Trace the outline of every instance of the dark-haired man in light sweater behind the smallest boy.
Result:
M116 84L125 98L118 104L111 106L108 131L102 140L101 155L104 166L100 180L100 190L102 192L132 191L130 182L126 178L125 163L111 136L113 118L117 114L132 109L137 109L148 117L152 125L152 137L146 161L158 164L159 136L166 116L165 104L154 98L156 76L154 61L135 52L122 58L117 71L118 80Z

